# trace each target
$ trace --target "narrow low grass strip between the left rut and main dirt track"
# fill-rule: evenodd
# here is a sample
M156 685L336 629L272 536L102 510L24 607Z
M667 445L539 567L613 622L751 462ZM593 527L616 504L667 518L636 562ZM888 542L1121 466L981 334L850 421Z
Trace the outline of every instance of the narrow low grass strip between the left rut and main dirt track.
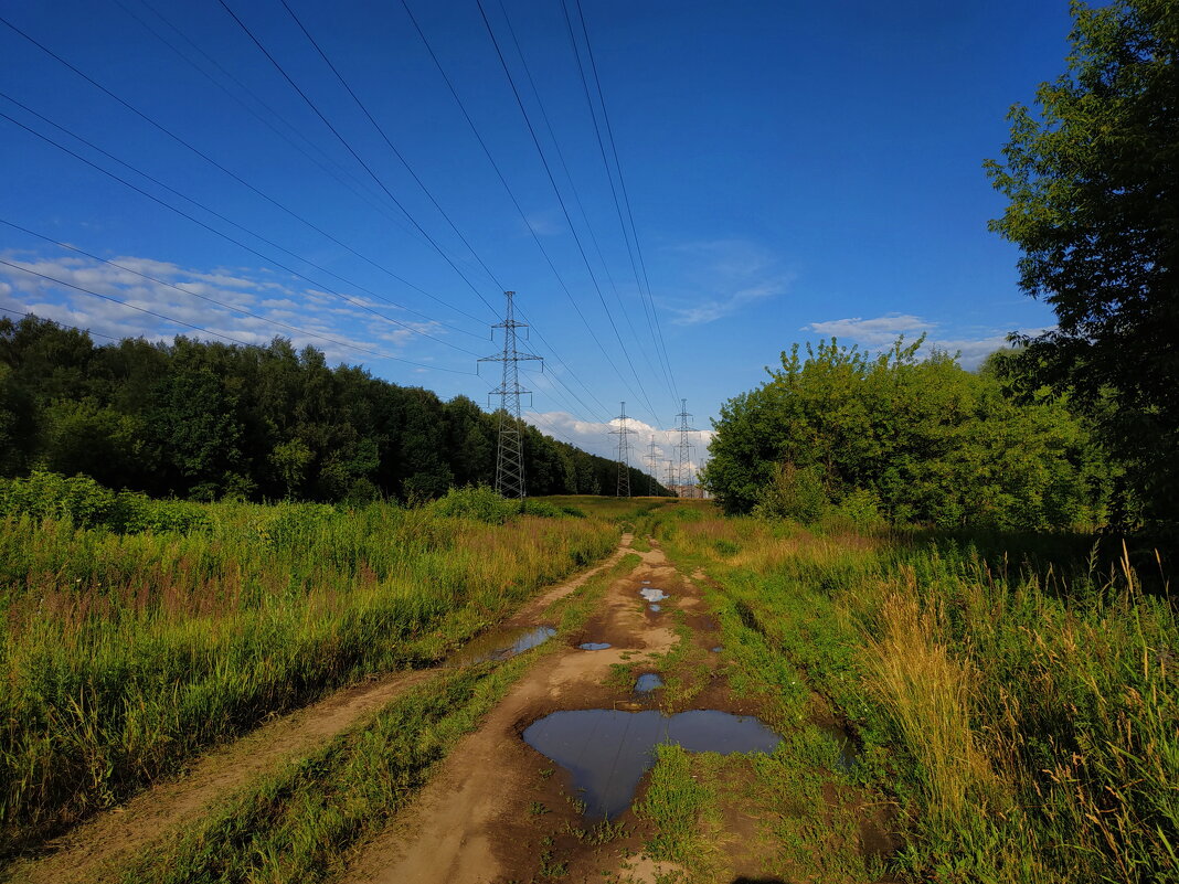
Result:
M637 561L624 556L547 614L562 632L578 628L606 587ZM559 648L548 642L502 664L441 672L318 752L251 784L167 850L146 850L108 877L125 884L331 878L527 668Z

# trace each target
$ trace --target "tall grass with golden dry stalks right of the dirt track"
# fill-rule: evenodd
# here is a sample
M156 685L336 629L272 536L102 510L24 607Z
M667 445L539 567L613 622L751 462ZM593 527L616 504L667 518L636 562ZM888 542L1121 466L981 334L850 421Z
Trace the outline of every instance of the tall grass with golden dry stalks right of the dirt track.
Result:
M961 537L703 509L660 534L711 562L743 624L726 649L780 691L783 718L814 713L814 690L858 728L862 776L907 820L895 871L1179 880L1179 621L1127 556L1015 537L1038 555L992 565Z

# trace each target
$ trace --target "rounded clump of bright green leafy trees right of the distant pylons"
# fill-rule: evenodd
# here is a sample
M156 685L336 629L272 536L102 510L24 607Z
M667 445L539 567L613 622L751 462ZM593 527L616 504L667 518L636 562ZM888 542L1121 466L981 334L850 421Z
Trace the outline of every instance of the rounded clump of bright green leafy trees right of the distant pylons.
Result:
M990 367L918 358L920 344L783 352L766 383L722 408L706 487L730 513L804 521L829 507L944 527L1101 516L1102 463L1061 402L1017 403Z

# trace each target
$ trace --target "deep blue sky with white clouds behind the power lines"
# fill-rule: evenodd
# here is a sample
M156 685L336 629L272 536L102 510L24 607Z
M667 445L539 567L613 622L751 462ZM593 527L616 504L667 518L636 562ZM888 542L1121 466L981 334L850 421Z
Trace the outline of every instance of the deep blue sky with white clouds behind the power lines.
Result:
M284 335L486 403L498 378L475 359L498 347L511 288L547 357L526 381L534 420L598 453L620 401L639 446L676 423L678 397L706 428L795 341L927 331L973 365L1008 331L1052 324L986 229L1002 202L981 163L1010 104L1062 71L1063 0L582 0L666 363L561 2L483 6L592 277L474 0L409 8L519 211L400 1L288 0L408 167L282 0L226 2L363 165L219 0L11 5L12 25L143 117L2 25L0 113L206 226L0 119L0 218L52 240L0 224L0 259L18 265L0 264L0 308L116 337Z

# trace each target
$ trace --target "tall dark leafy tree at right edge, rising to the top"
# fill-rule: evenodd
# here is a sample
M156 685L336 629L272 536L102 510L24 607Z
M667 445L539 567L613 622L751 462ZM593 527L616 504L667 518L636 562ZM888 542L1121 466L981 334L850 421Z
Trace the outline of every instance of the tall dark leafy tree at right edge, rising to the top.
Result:
M1023 355L1101 422L1144 515L1179 520L1179 4L1073 2L1067 71L1017 104L992 229L1058 328Z

